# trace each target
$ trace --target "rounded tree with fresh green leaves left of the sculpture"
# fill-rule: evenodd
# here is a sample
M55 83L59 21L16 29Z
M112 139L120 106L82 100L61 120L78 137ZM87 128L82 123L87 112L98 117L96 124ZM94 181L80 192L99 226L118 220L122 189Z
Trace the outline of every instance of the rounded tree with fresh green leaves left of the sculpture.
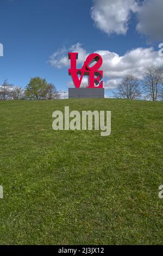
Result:
M25 88L25 96L27 99L45 99L47 92L48 83L46 79L41 79L39 77L30 79L29 84Z

